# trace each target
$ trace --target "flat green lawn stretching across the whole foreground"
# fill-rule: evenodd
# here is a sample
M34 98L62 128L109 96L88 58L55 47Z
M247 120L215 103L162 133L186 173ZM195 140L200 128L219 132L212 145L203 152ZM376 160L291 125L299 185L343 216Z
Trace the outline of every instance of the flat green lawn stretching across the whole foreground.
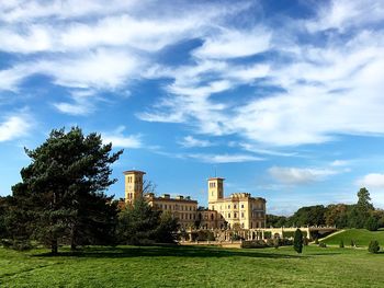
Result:
M384 287L384 254L317 246L91 247L77 255L0 247L0 287Z

